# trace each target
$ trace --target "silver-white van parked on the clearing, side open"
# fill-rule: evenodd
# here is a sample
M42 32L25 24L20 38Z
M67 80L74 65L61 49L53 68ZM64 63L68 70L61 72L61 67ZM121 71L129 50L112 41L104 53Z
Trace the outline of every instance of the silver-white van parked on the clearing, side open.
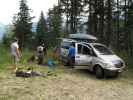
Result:
M63 39L61 42L61 61L69 65L68 49L75 44L75 69L88 69L96 73L97 78L107 75L117 76L125 68L124 61L105 45L100 43L77 42Z

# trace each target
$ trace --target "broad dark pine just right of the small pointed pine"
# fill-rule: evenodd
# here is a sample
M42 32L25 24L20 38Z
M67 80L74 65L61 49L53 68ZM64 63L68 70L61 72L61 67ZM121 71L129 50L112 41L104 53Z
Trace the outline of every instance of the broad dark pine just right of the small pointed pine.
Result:
M49 9L48 12L49 23L49 45L55 46L57 44L57 38L61 36L62 30L62 17L60 12L60 6L54 6Z

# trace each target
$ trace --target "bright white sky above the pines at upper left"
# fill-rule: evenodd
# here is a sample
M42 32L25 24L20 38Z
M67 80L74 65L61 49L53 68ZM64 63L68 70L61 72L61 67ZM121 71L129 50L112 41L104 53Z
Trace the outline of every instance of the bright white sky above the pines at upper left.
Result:
M14 14L19 12L20 0L1 0L0 2L0 23L11 24ZM57 4L58 0L27 0L27 5L33 10L31 16L35 16L33 22L37 22L40 12L47 15L48 9Z

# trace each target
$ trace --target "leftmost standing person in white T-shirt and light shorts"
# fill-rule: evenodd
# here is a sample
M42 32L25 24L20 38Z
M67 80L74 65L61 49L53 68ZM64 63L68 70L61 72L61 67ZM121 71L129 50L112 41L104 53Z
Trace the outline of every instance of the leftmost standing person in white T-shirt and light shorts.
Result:
M15 70L17 69L17 64L20 60L20 51L19 51L19 45L18 45L18 39L14 38L13 42L11 43L11 56L13 60L13 66L15 67Z

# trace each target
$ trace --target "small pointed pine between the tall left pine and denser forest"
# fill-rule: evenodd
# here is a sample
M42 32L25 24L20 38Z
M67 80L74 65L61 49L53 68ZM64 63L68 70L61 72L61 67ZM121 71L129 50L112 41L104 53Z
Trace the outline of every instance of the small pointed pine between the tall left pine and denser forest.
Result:
M39 44L40 42L47 42L47 34L48 34L48 27L47 27L47 23L46 20L44 18L44 14L43 12L41 12L40 15L40 19L37 23L37 29L36 29L36 40L37 40L37 44Z

